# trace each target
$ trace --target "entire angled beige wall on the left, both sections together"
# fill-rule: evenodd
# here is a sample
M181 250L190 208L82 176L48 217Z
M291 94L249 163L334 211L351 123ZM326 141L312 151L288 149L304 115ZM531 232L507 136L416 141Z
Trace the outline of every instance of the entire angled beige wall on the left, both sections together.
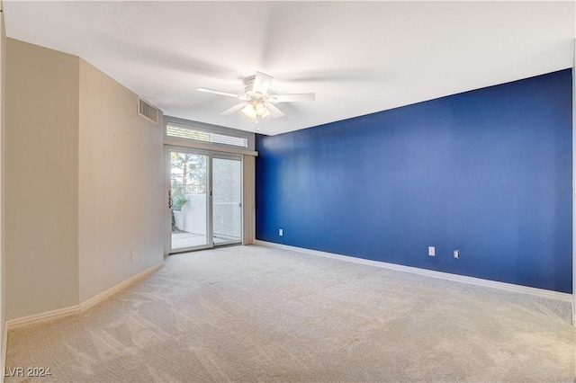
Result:
M23 41L8 39L6 58L10 320L77 307L161 263L164 198L162 129L136 94Z

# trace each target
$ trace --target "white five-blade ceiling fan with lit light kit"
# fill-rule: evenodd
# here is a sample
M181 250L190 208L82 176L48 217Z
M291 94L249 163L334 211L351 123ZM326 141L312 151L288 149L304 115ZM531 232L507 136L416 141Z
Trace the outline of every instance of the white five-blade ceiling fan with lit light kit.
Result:
M274 77L262 72L257 72L256 76L247 77L244 81L246 84L244 94L230 94L228 92L207 88L196 88L196 90L209 94L225 95L241 100L242 102L232 106L226 111L222 111L220 114L228 115L241 110L242 114L255 120L256 123L270 115L276 119L284 116L284 112L275 105L276 102L314 101L316 98L315 94L269 94L268 92L273 79Z

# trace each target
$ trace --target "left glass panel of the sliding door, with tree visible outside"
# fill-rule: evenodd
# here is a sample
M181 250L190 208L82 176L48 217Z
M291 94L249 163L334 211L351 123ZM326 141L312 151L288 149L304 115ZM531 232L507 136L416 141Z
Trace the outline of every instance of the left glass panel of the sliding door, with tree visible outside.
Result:
M170 149L171 253L211 246L210 156Z

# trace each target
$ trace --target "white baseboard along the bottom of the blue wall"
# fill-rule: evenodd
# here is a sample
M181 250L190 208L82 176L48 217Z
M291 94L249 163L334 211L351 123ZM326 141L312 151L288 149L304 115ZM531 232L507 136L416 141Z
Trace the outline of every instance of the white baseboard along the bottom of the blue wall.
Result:
M292 250L294 252L299 252L299 253L304 253L304 254L311 254L311 255L322 256L325 258L338 259L340 261L346 261L346 262L351 262L351 263L360 263L360 264L367 264L367 265L376 266L376 267L382 267L383 269L391 269L391 270L396 270L399 272L411 272L413 274L424 275L424 276L432 277L432 278L440 278L440 279L447 280L447 281L456 281L456 282L468 283L468 284L488 287L488 288L492 288L492 289L504 289L504 290L511 291L511 292L519 292L519 293L535 295L535 296L543 297L543 298L562 300L563 302L572 302L572 294L567 294L565 292L552 291L549 289L536 289L536 288L531 288L531 287L527 287L527 286L515 285L512 283L482 280L481 278L474 278L474 277L467 277L464 275L450 274L448 272L435 272L433 270L420 269L418 267L404 266L401 264L372 261L372 260L368 260L368 259L356 258L353 256L320 252L318 250L311 250L311 249L306 249L303 247L275 244L274 242L266 242L266 241L261 241L259 239L254 241L254 245L264 245L264 246L269 246L269 247L276 247L279 249ZM576 316L574 317L574 321L572 321L572 323L576 324Z

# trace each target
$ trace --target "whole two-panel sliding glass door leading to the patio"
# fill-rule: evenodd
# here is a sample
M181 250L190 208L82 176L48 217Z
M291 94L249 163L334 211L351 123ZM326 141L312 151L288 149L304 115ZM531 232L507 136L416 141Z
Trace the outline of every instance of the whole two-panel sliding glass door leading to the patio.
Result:
M242 161L166 147L168 253L242 242Z

